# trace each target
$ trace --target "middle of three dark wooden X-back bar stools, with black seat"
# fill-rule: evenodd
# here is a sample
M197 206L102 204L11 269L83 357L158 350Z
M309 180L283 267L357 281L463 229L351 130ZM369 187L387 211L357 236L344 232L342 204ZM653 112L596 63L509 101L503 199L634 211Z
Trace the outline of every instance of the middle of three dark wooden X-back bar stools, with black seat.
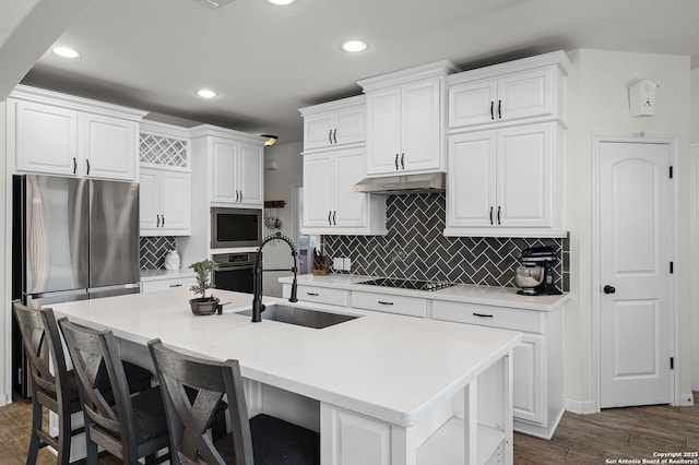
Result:
M169 448L165 407L161 390L152 388L133 397L120 362L117 342L111 331L96 331L58 321L73 360L78 390L85 417L87 464L97 464L97 446L121 458L125 464L162 463L170 454L157 456ZM109 379L112 402L99 386L99 366L104 362Z

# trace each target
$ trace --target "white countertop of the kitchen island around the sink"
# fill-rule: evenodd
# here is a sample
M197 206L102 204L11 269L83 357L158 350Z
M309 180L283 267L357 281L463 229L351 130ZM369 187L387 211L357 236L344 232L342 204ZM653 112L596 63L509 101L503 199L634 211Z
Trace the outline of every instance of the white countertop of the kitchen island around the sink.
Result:
M415 425L521 341L512 331L311 302L298 306L362 318L322 330L252 323L233 313L250 308L249 294L215 295L230 302L223 315L193 315L187 289L57 303L54 310L138 344L159 337L192 354L238 359L246 378L403 427Z

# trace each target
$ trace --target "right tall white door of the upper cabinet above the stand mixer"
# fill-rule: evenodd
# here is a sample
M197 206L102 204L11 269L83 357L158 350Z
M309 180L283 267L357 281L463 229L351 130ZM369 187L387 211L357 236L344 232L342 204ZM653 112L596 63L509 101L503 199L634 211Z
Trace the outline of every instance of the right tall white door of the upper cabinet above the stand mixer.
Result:
M550 226L552 124L498 131L497 208L502 226Z

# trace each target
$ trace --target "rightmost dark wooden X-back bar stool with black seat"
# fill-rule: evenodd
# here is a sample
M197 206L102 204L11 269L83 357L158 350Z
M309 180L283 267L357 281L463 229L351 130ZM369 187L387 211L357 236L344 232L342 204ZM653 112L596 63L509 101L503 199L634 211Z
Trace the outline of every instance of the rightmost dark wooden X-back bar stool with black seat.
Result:
M248 419L237 360L214 361L149 342L163 391L173 462L181 464L317 465L320 436L269 416ZM197 391L193 402L185 388ZM212 441L208 425L222 397L227 397L232 432Z

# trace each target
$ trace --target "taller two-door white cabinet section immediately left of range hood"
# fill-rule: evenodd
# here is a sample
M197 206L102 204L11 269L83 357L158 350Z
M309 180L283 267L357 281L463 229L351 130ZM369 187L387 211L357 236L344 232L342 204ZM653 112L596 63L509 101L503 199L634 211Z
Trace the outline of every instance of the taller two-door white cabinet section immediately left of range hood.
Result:
M304 234L386 235L386 196L354 192L364 147L304 155Z

